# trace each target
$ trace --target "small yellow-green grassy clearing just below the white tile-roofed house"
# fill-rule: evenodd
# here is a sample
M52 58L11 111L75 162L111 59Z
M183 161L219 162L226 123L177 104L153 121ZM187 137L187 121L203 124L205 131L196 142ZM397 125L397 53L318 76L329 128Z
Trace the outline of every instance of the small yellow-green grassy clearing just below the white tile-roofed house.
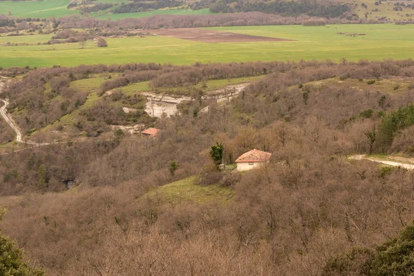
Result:
M217 185L196 185L198 179L198 176L181 179L155 190L150 190L143 198L149 197L156 201L166 201L172 205L177 205L184 201L205 204L217 200L225 204L234 195L234 190L231 188L223 188Z

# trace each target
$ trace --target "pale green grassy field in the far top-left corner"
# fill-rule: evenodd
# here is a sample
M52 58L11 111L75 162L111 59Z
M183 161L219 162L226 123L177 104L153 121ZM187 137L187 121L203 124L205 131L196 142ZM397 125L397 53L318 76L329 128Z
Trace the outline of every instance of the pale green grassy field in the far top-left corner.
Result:
M1 1L0 14L32 18L63 17L70 14L79 14L79 10L67 9L69 3L70 0Z

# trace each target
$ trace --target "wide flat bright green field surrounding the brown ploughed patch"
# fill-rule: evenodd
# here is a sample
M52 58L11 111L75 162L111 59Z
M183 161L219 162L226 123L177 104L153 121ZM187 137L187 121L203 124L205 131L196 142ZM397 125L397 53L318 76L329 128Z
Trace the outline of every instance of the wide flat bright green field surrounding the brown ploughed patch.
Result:
M414 26L393 24L304 26L248 26L211 28L227 32L295 39L296 41L202 43L170 37L128 37L107 39L108 48L96 48L88 41L78 43L0 47L0 66L49 67L96 63L156 62L190 64L201 62L272 61L299 59L413 58ZM365 33L348 37L337 32ZM33 43L37 36L28 36ZM20 39L20 38L19 38ZM39 41L44 37L39 37Z

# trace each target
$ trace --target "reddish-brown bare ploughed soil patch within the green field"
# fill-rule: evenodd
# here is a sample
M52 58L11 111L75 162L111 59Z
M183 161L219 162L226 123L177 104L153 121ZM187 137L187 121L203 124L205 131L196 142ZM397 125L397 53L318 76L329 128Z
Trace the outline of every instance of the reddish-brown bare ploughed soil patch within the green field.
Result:
M236 34L234 32L221 32L217 30L205 30L199 28L177 28L151 30L152 34L163 37L175 37L206 43L224 42L259 42L259 41L295 41L291 39L277 39L273 37L259 37L249 34Z

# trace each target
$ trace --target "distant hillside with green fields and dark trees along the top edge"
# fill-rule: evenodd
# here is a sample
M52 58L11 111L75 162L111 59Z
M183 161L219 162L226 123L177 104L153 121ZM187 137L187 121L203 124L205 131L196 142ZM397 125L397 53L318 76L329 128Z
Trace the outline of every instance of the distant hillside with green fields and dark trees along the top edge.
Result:
M65 17L88 14L99 19L141 18L153 15L207 15L219 13L264 12L282 17L319 17L362 21L410 21L411 3L398 1L0 1L0 14L21 18Z

